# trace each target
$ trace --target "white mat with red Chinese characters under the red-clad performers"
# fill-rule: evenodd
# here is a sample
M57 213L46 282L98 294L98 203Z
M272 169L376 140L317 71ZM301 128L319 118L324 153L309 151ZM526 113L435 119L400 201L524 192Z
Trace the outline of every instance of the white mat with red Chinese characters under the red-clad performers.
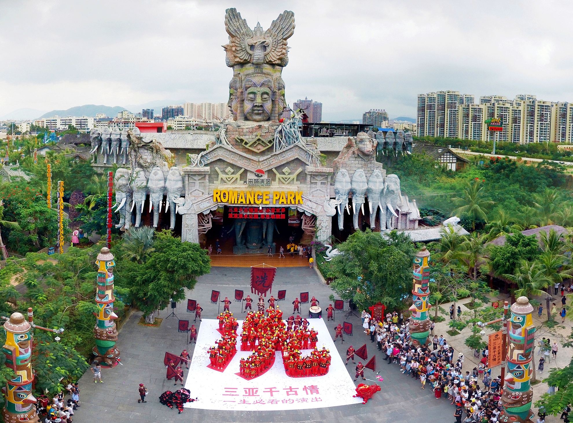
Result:
M197 336L197 345L193 353L190 369L186 372L185 388L191 391L195 402L185 404L186 408L207 410L296 410L304 408L332 407L357 404L360 398L353 398L356 385L348 374L346 366L332 342L331 334L320 319L308 319L309 328L318 332L318 349L323 345L330 350L332 360L328 374L313 377L288 377L282 365L281 352L276 352L276 360L268 372L252 380L237 376L241 357L250 356L249 351L237 351L225 372L207 368L209 353L207 350L221 338L215 319L203 319ZM241 333L243 321L239 321L238 333ZM240 341L240 339L239 339ZM345 342L346 344L346 342ZM350 345L350 344L348 344ZM241 343L237 343L240 349ZM303 351L307 356L310 350ZM349 364L354 370L352 363Z

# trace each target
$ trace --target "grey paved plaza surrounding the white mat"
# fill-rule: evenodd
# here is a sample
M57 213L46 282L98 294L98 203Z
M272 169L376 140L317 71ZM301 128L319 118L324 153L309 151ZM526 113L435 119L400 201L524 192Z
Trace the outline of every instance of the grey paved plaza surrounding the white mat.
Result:
M117 275L119 277L119 275ZM221 291L222 298L233 298L235 289L250 293L249 268L211 268L211 273L200 278L189 298L196 299L203 308L202 317L213 318L217 314L217 305L210 303L211 289ZM286 300L278 304L285 311L292 313L291 302L300 292L308 291L310 296L316 296L321 305L328 306L328 296L332 290L319 281L314 270L308 268L280 268L277 270L273 285L273 294L279 289L286 289ZM303 313L308 310L308 304L303 305ZM256 308L256 306L255 306ZM221 305L222 309L222 305ZM175 310L182 319L193 318L194 314L186 312L186 304L181 302ZM231 311L241 314L241 305L233 302ZM170 310L163 310L160 317L166 317ZM277 412L219 412L217 410L185 409L178 414L176 409L169 409L159 404L159 395L166 390L174 390L172 381L165 378L166 370L163 356L166 351L179 354L187 348L193 354L193 345L185 344L186 335L177 332L177 320L170 317L163 320L159 328L149 328L138 325L140 312L131 315L120 330L117 346L121 350L123 366L103 370L104 384L94 384L92 373L84 374L80 380L81 407L77 409L74 421L76 423L117 423L121 421L136 421L139 423L159 422L329 422L352 423L362 421L401 423L423 419L426 422L454 421L453 406L444 397L436 400L431 389L420 389L419 382L405 377L399 371L398 365L388 365L383 361L381 352L370 343L370 338L362 333L360 319L352 316L346 319L354 324L354 336L346 337L344 344L336 342L340 356L346 356L349 345L355 348L368 345L368 357L376 354L380 375L384 378L379 382L382 391L375 394L368 404L354 404L322 409L283 410ZM334 326L345 320L343 313L336 313L335 323L327 322L334 333ZM197 322L199 323L199 322ZM201 326L199 325L199 331ZM356 357L359 360L358 357ZM348 372L354 377L354 366L348 365ZM366 370L365 376L374 379L374 373ZM185 378L193 377L185 373ZM138 404L138 385L143 383L149 390L147 404ZM356 382L358 384L358 382ZM207 401L201 392L191 392L191 396Z

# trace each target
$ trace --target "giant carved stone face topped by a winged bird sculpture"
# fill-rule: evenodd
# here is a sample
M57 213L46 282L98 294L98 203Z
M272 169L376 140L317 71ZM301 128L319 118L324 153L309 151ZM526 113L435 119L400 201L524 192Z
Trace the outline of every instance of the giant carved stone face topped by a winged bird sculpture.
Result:
M233 68L227 105L233 119L277 120L285 106L281 73L288 63L286 40L295 31L295 14L285 10L263 31L260 23L252 30L236 9L227 9L225 29L225 62Z

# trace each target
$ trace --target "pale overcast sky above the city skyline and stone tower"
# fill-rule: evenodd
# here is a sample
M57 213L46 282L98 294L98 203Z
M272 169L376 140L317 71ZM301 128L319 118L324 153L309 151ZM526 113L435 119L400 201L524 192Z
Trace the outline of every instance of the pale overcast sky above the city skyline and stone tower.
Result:
M226 101L225 9L295 12L286 100L323 119L415 117L416 95L573 101L573 2L0 0L0 116L22 107Z

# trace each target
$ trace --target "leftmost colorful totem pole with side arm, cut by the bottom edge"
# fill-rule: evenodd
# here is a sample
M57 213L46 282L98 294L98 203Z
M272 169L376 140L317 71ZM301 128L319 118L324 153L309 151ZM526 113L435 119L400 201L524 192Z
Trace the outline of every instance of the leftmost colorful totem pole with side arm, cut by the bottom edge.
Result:
M2 317L6 320L4 332L6 332L6 344L2 346L2 352L6 356L6 367L14 370L14 378L6 382L2 393L6 399L3 409L3 421L5 423L36 423L36 398L32 395L32 328L49 330L54 333L62 333L64 329L48 329L36 326L33 322L32 308L28 309L28 321L22 313L12 313L10 317Z

